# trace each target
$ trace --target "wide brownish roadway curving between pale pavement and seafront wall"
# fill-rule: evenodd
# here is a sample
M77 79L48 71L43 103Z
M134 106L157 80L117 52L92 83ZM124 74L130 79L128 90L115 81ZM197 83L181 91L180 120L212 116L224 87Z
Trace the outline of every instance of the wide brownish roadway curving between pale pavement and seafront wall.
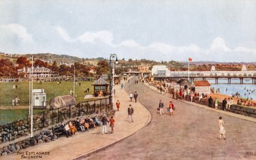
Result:
M174 100L143 84L134 85L132 80L125 90L138 92L138 101L148 108L152 121L136 134L86 159L256 159L255 122ZM159 99L165 106L172 99L177 108L174 117L159 115ZM225 122L227 140L219 140L219 116Z

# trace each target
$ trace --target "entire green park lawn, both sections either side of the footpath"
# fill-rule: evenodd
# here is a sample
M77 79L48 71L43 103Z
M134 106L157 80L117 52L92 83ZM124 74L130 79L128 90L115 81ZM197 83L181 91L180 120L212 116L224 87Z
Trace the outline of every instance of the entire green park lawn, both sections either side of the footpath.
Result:
M77 95L76 101L86 101L84 96L92 94L93 81L81 81L81 85L77 82L75 85L75 94ZM16 87L13 87L17 85ZM44 89L47 94L47 105L49 105L52 98L56 96L70 95L70 91L73 91L73 82L33 82L33 89ZM90 92L85 92L86 89L90 89ZM19 106L28 106L29 108L29 82L3 82L0 83L0 108L4 106L12 107L11 110L0 110L0 125L13 122L15 120L26 119L29 114L29 109L15 109L17 106L12 106L12 98L16 96L20 99ZM88 99L87 99L88 100ZM34 110L33 113L43 112L44 110Z

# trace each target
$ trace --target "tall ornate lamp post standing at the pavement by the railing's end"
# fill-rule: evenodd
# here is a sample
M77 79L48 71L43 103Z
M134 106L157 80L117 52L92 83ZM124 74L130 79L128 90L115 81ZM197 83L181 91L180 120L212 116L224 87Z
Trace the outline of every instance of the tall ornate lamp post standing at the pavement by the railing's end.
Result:
M115 107L115 95L114 95L114 91L115 91L115 80L114 80L114 76L115 76L115 64L118 64L118 59L117 59L117 55L116 54L110 54L109 56L109 102L113 103L113 110ZM112 68L111 68L112 66ZM111 77L112 76L112 77ZM113 94L113 101L111 101L112 99L112 94Z

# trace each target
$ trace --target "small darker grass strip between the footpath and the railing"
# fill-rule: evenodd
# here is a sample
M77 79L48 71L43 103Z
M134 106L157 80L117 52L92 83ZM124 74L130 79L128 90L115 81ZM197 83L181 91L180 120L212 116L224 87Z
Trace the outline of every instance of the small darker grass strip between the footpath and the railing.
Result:
M33 114L44 110L33 110ZM15 120L27 119L29 110L0 110L0 125L11 123Z

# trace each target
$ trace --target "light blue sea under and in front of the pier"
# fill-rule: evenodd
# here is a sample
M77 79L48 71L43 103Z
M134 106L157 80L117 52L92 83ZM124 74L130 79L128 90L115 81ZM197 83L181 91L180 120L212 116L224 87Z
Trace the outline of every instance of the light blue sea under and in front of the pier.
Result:
M214 89L220 89L220 94L232 96L239 93L241 98L256 99L256 84L252 84L252 79L244 79L244 84L239 84L239 79L232 79L228 84L227 79L219 79L219 84L215 84L215 79L207 79Z

